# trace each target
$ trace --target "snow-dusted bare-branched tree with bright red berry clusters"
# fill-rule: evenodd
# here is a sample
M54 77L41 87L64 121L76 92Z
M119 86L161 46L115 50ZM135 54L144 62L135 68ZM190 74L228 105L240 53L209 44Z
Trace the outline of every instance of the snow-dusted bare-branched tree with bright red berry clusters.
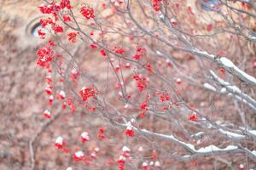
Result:
M254 0L42 3L32 169L48 126L68 170L256 168Z

